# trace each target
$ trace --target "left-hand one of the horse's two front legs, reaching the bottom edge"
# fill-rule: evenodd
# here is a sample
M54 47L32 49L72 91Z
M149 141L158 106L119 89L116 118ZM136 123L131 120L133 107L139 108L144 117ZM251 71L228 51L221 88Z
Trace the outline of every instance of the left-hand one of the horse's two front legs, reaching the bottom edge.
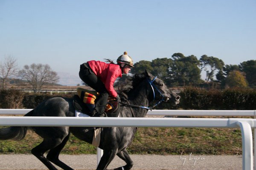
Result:
M106 170L110 162L116 156L116 152L117 150L104 150L96 170Z

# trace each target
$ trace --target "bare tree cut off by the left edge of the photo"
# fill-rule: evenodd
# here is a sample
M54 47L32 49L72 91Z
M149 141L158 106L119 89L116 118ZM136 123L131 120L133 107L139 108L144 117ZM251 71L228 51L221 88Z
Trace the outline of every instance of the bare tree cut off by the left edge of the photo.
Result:
M6 88L6 81L14 78L17 75L17 72L17 60L11 55L5 57L3 63L0 63L0 80L2 83L2 89Z

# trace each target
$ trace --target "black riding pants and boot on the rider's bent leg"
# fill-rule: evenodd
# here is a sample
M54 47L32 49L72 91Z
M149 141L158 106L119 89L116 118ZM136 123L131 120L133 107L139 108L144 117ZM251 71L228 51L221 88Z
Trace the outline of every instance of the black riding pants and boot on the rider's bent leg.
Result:
M105 84L102 83L87 64L80 65L79 77L84 83L99 93L99 96L95 100L95 109L93 113L102 114L105 111L109 96Z

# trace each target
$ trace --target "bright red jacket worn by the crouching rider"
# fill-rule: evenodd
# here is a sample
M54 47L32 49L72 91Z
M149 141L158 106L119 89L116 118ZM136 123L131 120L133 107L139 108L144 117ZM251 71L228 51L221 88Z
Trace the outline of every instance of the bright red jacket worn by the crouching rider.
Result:
M104 63L102 61L88 61L87 62L94 72L94 74L100 78L102 83L105 84L106 89L108 90L109 95L114 98L117 96L117 93L113 87L116 78L122 77L122 70L119 65Z

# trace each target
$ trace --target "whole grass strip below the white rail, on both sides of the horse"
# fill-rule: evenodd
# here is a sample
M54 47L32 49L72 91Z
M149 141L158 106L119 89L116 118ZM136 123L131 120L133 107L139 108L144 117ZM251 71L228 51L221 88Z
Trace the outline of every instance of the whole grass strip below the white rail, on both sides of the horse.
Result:
M42 138L28 131L21 141L0 141L0 154L22 153L40 144ZM222 128L139 128L131 154L213 154L236 155L242 153L241 131ZM70 135L64 154L96 154L96 147Z

